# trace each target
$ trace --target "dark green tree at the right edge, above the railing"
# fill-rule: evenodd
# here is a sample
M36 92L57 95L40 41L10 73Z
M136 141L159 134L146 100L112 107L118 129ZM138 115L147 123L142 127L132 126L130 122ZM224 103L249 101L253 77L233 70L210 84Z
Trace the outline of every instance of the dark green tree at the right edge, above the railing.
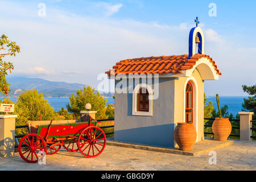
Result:
M253 86L242 85L243 92L250 96L243 99L242 110L254 112L253 119L256 119L256 84Z

